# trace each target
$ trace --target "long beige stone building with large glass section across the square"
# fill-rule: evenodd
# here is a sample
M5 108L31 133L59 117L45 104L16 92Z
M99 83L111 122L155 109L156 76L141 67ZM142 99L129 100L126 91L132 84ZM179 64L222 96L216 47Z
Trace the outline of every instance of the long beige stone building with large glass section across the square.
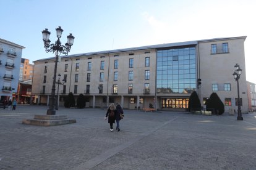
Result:
M177 42L152 46L67 55L58 62L59 105L72 92L84 94L86 107L121 103L129 109L185 110L192 91L201 103L216 92L225 110L237 106L234 65L239 79L242 112L248 111L244 41L246 36ZM36 103L48 104L55 57L36 60L32 94ZM198 79L201 85L198 86ZM57 89L57 88L56 88ZM56 94L57 94L56 90Z

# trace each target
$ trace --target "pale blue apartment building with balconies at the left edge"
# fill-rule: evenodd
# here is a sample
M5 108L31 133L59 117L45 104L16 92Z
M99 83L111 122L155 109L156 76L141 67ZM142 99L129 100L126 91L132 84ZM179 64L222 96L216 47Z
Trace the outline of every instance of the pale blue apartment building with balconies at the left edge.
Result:
M0 102L12 99L17 92L20 59L25 47L0 38Z

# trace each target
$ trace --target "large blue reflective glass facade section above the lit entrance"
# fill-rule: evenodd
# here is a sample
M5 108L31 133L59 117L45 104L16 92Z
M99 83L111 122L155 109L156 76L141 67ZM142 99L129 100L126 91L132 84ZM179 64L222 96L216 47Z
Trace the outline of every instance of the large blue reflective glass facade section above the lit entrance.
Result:
M196 89L195 47L158 50L156 92L190 94Z

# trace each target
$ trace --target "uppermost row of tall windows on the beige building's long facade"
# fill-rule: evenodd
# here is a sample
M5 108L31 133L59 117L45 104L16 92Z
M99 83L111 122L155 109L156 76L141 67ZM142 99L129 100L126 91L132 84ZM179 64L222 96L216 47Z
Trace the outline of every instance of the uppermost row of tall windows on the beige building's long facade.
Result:
M114 69L118 69L119 63L118 60L114 60ZM134 67L134 59L129 59L129 68ZM150 67L150 57L145 57L145 67ZM65 64L64 72L67 72L68 64ZM100 62L100 70L104 70L105 61ZM45 73L47 73L48 66L45 66ZM87 63L87 70L92 70L92 62ZM75 71L79 71L79 63L75 63Z

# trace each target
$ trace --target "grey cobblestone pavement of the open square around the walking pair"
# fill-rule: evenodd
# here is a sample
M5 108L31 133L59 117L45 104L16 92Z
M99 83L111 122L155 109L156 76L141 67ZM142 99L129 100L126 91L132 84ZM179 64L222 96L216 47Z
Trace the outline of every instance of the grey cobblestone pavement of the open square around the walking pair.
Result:
M124 110L109 131L100 108L59 108L77 123L32 126L46 106L0 108L0 169L256 169L256 113L236 116ZM114 125L115 127L115 125Z

